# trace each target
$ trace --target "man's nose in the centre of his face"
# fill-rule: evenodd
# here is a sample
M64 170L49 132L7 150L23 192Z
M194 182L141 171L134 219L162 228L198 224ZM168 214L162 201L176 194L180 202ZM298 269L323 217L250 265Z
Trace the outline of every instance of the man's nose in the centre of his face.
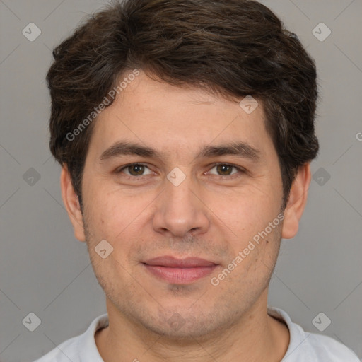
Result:
M153 229L166 236L185 237L206 233L210 221L206 200L190 177L180 185L165 180L165 189L156 199Z

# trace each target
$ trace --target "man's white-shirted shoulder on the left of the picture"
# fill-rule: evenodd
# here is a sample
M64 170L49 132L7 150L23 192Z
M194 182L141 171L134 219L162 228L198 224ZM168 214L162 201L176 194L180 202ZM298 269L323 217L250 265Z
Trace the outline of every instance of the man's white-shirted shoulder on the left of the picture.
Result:
M107 325L107 314L96 317L86 332L64 341L34 362L103 362L95 345L94 334L98 329L107 327Z

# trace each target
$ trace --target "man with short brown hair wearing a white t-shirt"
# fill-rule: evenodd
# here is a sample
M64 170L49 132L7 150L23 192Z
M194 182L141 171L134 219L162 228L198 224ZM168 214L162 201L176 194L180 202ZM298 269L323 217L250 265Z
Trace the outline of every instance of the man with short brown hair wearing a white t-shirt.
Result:
M107 315L45 361L353 361L268 308L318 151L313 59L247 0L128 0L54 50L50 148Z

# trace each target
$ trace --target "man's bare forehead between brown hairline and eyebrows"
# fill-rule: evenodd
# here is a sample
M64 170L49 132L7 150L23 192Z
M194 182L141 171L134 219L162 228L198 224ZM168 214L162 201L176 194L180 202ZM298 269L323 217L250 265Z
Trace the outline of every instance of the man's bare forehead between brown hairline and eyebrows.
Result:
M273 147L265 129L262 103L248 113L238 101L202 88L155 81L143 72L98 115L90 149L95 147L103 153L120 140L175 154L196 154L201 145L235 141L261 151Z

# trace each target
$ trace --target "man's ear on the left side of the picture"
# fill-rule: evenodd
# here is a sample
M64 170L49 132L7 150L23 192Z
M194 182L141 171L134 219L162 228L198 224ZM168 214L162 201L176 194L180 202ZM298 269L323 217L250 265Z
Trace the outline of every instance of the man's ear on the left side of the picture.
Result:
M74 236L79 241L85 241L86 237L84 233L81 205L79 204L78 196L74 191L71 183L71 176L66 166L62 168L62 173L60 175L60 187L62 189L62 199L64 206L66 207L66 212L73 224Z

